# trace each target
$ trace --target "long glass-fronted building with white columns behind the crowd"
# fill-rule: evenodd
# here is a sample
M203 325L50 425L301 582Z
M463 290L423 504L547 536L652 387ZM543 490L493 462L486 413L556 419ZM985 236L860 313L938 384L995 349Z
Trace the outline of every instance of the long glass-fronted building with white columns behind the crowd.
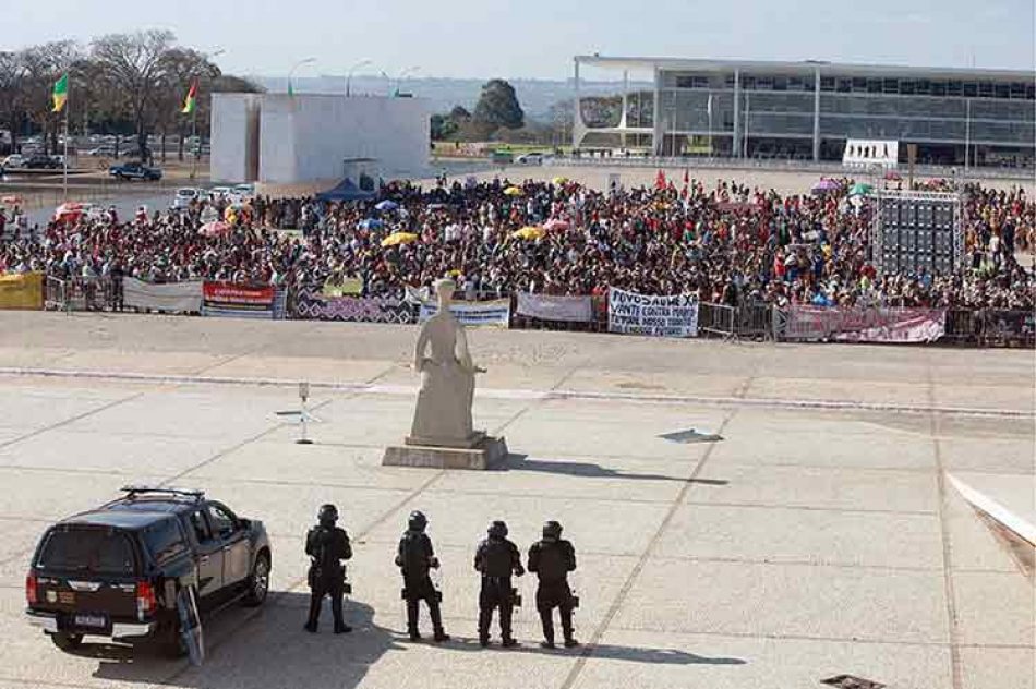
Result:
M581 65L652 73L617 117L588 122ZM575 59L573 145L615 141L655 155L834 160L847 138L917 145L919 164L1032 167L1036 78L1007 70L828 62Z

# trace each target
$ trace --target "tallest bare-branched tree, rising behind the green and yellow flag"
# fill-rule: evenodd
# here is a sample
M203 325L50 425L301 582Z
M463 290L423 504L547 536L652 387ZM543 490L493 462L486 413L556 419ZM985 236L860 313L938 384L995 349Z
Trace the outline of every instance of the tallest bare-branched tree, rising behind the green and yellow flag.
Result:
M91 58L103 78L124 98L142 160L147 157L147 132L157 117L160 88L168 85L168 53L173 40L172 32L150 29L110 34L92 45Z

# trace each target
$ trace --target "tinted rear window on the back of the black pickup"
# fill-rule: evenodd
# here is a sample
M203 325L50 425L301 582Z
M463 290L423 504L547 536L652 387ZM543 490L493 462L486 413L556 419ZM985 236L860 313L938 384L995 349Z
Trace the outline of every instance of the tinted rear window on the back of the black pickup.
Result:
M43 569L105 575L134 573L133 548L124 534L106 529L52 531L39 551Z

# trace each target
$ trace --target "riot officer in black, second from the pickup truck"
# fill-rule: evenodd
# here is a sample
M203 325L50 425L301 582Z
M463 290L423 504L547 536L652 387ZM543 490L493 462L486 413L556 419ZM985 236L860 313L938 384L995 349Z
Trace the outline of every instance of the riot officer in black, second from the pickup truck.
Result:
M403 600L407 602L407 632L411 641L421 638L418 631L418 603L424 601L429 606L436 641L446 641L449 636L443 629L443 613L439 608L442 595L432 585L430 569L438 569L438 558L432 549L432 540L424 533L427 518L419 511L410 512L407 531L399 540L396 553L396 566L402 571Z

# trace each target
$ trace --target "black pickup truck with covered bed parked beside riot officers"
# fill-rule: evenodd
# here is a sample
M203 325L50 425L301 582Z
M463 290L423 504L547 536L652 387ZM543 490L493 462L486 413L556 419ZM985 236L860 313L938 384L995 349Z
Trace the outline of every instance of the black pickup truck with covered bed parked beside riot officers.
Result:
M212 611L261 605L269 588L263 523L200 491L125 487L125 495L50 527L25 579L26 615L55 645L84 636L189 650L182 601ZM190 624L190 622L189 622Z

